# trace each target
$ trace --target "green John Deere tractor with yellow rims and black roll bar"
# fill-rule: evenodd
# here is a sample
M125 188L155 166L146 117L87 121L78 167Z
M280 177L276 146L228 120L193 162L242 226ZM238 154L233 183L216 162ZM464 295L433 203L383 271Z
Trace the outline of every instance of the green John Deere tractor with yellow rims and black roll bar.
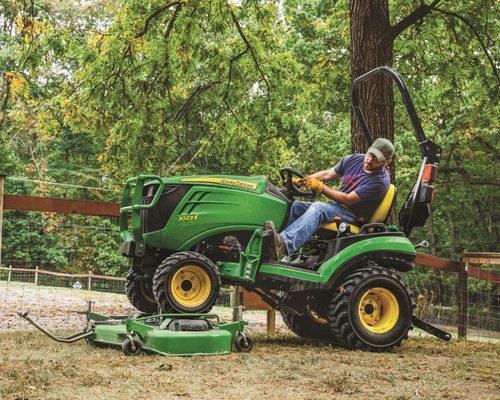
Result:
M285 188L264 176L203 175L161 178L141 175L126 182L120 216L122 254L130 257L126 290L145 313L205 313L222 284L255 292L281 312L297 335L348 348L389 350L412 326L449 340L413 316L415 301L401 277L415 262L408 235L424 225L434 197L432 182L441 148L426 139L401 76L376 68L353 83L352 102L363 131L359 85L377 74L399 88L423 154L417 181L399 213L386 225L396 188L391 185L369 221L323 224L296 254L269 258L267 220L283 227L296 197L312 198L280 173Z

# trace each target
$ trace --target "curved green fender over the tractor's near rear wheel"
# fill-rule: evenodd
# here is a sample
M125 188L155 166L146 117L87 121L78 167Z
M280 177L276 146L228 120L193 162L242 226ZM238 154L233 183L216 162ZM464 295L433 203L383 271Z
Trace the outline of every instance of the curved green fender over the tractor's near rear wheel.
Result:
M415 262L416 251L404 236L375 237L354 243L341 250L318 268L320 282L331 289L344 274L362 268L370 262L397 271L409 271Z

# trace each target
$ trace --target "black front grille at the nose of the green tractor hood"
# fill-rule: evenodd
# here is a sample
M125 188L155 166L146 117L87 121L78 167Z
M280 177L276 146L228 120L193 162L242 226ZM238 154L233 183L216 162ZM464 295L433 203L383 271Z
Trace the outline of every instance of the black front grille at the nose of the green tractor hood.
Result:
M150 204L158 190L158 184L145 186L142 190L141 204ZM153 208L141 210L142 233L149 233L163 229L170 216L187 193L189 186L168 185L163 188L163 193L158 203Z

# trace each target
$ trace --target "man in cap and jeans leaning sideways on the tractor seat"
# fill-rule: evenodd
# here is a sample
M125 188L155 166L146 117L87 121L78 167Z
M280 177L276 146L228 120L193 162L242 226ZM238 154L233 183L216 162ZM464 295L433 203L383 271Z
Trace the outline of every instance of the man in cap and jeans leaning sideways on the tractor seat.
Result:
M270 257L281 259L298 250L324 222L340 217L347 223L369 218L377 208L390 184L386 167L394 155L394 145L387 139L377 139L366 154L351 154L344 157L331 169L316 172L306 178L295 178L294 183L324 194L332 201L295 201L285 228L278 233L272 221L266 228L270 236ZM342 177L340 190L324 184Z

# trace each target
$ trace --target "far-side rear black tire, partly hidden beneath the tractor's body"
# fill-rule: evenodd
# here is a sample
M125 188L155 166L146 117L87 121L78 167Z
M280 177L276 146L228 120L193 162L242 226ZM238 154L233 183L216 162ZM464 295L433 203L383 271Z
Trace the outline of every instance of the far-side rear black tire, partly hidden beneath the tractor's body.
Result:
M324 308L325 300L315 299L311 296L297 296L287 294L284 298L284 304L290 305L302 315L297 315L286 308L280 309L283 322L293 333L305 339L332 339L328 321L324 318L326 310ZM316 310L322 309L323 312Z

